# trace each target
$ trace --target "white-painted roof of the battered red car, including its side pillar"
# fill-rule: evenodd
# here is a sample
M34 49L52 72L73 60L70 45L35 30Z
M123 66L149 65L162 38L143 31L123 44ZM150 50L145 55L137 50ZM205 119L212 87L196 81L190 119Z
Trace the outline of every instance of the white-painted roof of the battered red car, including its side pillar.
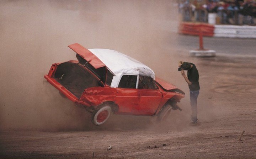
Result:
M89 49L114 74L111 87L116 88L123 74L150 76L155 79L154 71L138 60L109 49Z

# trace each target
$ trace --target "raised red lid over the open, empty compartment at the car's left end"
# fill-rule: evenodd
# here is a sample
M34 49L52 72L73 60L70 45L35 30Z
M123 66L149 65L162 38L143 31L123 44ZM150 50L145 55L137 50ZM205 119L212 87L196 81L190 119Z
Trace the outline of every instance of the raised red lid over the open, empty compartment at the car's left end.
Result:
M70 49L74 50L83 59L88 61L94 68L100 68L106 66L97 56L95 56L91 51L84 48L78 43L71 44L68 46Z

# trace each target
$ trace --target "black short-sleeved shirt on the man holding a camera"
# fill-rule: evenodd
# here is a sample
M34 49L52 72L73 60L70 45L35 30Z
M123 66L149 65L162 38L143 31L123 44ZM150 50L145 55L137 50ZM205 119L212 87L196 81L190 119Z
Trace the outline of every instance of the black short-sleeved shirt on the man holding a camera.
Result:
M197 71L196 65L190 63L191 65L193 65L192 68L190 68L187 72L187 76L188 76L188 80L190 80L190 82L192 82L191 85L188 85L188 87L190 88L190 91L197 91L200 89L199 86L199 73Z

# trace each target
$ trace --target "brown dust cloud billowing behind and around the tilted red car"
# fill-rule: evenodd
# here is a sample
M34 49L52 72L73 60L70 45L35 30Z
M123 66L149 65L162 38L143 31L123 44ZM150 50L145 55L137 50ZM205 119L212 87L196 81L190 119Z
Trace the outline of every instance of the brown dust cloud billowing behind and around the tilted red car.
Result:
M62 98L43 77L53 63L76 60L67 47L73 43L132 56L186 91L177 77L177 61L182 60L175 47L178 19L170 0L1 0L0 129L95 128L84 108ZM152 123L145 116L110 121L102 128L114 122L128 129Z

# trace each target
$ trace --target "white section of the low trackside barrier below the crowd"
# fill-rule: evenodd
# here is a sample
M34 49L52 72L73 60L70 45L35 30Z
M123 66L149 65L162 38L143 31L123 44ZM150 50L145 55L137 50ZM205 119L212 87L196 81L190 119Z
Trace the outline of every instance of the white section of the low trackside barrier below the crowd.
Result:
M256 38L255 26L214 25L214 37Z

